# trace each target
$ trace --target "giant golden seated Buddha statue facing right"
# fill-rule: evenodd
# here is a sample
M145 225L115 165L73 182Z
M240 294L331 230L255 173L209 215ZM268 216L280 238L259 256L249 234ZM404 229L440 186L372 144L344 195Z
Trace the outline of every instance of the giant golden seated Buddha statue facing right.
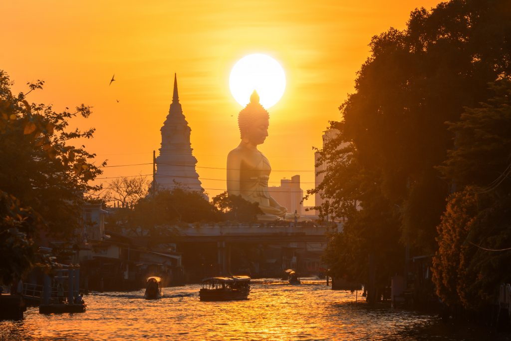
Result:
M258 202L263 220L283 217L287 209L268 193L271 166L257 146L268 136L268 111L259 103L257 92L250 96L250 103L240 111L238 125L241 142L227 155L227 193L240 195L245 200Z

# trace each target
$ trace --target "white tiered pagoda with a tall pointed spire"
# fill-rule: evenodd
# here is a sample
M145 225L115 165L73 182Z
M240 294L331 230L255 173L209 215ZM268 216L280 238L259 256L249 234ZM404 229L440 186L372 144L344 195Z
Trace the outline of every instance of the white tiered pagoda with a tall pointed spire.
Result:
M174 95L169 115L161 127L161 148L156 157L156 186L159 189L197 191L204 189L195 170L197 159L192 155L190 132L177 95L177 76L174 74Z

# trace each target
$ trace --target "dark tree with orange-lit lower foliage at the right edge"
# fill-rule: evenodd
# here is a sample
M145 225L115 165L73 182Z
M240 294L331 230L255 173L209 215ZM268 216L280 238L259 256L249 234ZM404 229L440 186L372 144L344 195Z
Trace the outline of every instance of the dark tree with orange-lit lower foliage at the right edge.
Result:
M438 167L458 192L438 226L433 281L446 304L467 309L492 304L499 284L511 281L511 80L490 91L449 123L455 148Z

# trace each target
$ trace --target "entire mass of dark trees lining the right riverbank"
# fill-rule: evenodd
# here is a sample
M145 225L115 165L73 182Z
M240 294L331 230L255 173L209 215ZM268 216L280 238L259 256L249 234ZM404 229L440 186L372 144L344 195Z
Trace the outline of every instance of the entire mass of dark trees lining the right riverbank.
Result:
M399 275L415 305L477 314L511 282L509 18L504 1L451 0L375 35L316 149L308 195L344 221L324 261L370 304Z

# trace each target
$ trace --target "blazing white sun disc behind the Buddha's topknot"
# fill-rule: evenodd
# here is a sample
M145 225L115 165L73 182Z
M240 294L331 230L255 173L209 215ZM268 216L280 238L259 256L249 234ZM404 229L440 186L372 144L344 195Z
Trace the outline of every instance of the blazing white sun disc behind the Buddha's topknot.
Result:
M284 95L286 74L275 59L256 53L241 58L230 72L229 88L234 99L245 106L256 90L260 103L267 109Z

